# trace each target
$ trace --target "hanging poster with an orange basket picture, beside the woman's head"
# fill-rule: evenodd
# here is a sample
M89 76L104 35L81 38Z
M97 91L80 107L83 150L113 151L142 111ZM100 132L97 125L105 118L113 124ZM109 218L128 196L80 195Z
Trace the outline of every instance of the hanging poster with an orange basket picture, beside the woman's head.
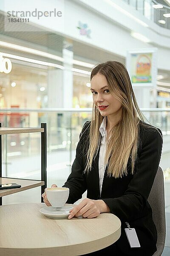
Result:
M132 83L152 82L152 54L131 53L131 81Z

